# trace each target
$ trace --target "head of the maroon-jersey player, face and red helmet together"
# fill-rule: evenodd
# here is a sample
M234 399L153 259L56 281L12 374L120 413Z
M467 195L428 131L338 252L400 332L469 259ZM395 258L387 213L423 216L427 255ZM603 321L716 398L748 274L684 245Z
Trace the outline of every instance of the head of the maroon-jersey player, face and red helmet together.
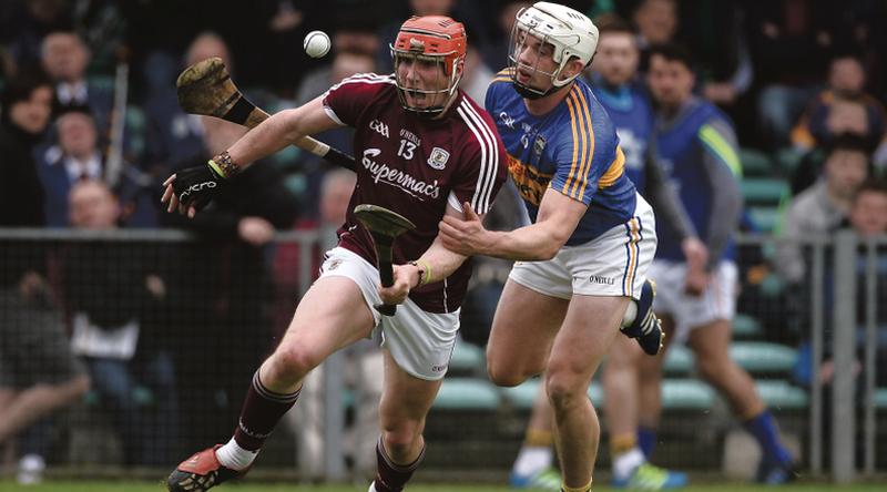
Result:
M414 17L400 27L390 49L400 105L417 114L442 113L456 96L462 78L466 54L462 24L442 16ZM425 104L416 104L422 100Z

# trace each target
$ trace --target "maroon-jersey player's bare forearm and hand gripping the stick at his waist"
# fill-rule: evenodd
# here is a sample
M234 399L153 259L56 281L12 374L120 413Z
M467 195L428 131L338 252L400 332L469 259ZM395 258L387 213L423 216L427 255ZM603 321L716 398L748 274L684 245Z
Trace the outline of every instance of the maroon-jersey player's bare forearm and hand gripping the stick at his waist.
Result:
M445 216L461 217L462 213L452 206L447 206ZM394 285L381 287L379 295L386 304L401 304L411 289L449 277L467 258L468 256L445 247L438 235L431 246L412 264L394 266Z

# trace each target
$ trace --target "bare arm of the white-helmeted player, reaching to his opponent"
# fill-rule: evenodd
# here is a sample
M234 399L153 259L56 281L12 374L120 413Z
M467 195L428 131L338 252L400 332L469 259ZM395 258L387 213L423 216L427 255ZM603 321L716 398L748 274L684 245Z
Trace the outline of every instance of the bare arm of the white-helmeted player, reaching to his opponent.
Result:
M468 204L466 217L445 216L440 223L443 246L466 256L485 255L514 260L551 259L575 230L588 206L555 189L548 189L537 222L510 232L483 228Z

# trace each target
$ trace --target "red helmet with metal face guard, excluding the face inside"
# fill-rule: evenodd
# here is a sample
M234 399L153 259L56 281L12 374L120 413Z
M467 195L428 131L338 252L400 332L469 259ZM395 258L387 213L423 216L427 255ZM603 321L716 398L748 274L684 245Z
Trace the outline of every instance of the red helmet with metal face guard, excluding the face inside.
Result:
M449 104L456 94L456 88L462 78L462 64L465 63L465 52L467 39L465 27L445 16L412 17L400 25L397 39L391 45L391 57L395 60L395 74L397 89L400 95L400 103L408 111L420 113L439 113ZM408 86L406 80L401 80L398 73L398 65L404 61L431 61L440 64L447 84L442 89L416 89ZM406 100L406 92L410 94L424 94L434 98L435 94L447 94L441 104L429 107L417 107L409 105Z

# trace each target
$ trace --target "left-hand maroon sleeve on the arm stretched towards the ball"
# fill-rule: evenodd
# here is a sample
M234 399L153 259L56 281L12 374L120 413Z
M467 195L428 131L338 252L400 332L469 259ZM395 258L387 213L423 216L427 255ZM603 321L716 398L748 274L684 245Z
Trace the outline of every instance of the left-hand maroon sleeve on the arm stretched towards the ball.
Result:
M391 75L358 73L344 79L324 94L324 109L341 125L357 126L360 114L391 83Z

